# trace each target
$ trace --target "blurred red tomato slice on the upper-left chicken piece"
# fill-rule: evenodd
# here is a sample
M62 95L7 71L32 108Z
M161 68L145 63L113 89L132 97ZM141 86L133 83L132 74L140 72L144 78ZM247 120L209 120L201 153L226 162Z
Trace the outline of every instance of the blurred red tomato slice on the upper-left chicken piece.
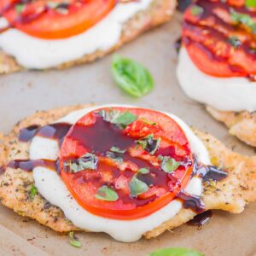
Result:
M33 37L69 38L102 20L113 9L116 0L70 0L68 5L62 0L52 0L50 3L47 0L24 4L18 0L1 0L0 13L11 26Z

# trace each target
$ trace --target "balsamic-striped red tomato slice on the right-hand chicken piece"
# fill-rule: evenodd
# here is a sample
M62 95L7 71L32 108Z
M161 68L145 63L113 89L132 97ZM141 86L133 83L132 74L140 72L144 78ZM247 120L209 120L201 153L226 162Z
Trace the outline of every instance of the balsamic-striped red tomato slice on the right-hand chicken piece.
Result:
M232 20L230 9L252 15L244 1L199 0L186 10L183 43L202 72L216 77L250 77L256 74L256 38L244 25Z

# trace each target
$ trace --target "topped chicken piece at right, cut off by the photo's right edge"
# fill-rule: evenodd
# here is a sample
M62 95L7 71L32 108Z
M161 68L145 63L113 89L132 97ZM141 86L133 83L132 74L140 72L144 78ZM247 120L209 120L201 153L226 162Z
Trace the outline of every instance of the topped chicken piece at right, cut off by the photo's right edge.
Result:
M256 146L256 2L196 1L184 14L182 41L184 92Z

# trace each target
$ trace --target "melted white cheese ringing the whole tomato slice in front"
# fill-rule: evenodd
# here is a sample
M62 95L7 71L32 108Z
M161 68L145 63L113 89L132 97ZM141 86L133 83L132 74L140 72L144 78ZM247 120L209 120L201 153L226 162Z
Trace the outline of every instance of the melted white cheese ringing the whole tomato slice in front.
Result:
M106 105L102 107L84 108L73 113L69 113L66 117L57 120L57 122L67 122L74 124L77 120L89 113L92 110L103 107L126 107L125 105ZM198 159L205 164L211 163L209 160L207 148L204 147L201 140L195 136L195 134L189 129L181 119L176 116L166 113L175 119L177 124L183 128L186 136L189 139L189 143L193 145L193 152L197 155ZM41 144L42 143L42 144ZM42 150L42 147L44 149ZM49 143L49 139L43 137L34 137L32 139L30 156L32 160L36 159L50 159L56 160L59 155L59 148L57 143L52 141ZM70 219L77 227L90 230L94 232L105 232L118 241L137 241L143 236L143 233L153 230L160 226L169 219L172 219L182 209L180 201L174 200L170 202L166 207L161 208L159 211L152 213L151 215L139 218L135 220L115 220L110 218L102 218L100 216L93 215L86 211L83 207L80 207L78 202L73 199L73 196L68 191L65 183L61 180L61 177L51 170L44 167L36 167L33 170L33 177L35 185L41 195L44 196L50 203L60 207L65 216ZM201 195L202 184L201 179L193 177L188 186L185 188L191 195Z

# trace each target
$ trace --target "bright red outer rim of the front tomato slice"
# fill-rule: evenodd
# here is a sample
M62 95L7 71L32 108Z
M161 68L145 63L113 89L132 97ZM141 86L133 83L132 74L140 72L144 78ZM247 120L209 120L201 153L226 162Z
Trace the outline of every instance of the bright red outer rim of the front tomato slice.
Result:
M114 109L118 109L118 110L122 110L124 111L125 109L129 109L131 110L131 108L114 108ZM147 113L146 116L147 117L152 117L152 116L160 116L160 119L164 118L164 119L170 119L169 117L167 117L165 114L163 113L158 113L155 111L151 111L151 110L145 110L142 108L132 108L132 113ZM82 119L80 119L78 121L77 124L83 124L84 122L86 122L87 125L92 125L92 123L94 122L94 117L93 114L88 113L87 115L85 115ZM91 121L92 120L92 121ZM172 120L173 122L173 120ZM170 125L170 124L169 124ZM177 125L177 124L176 124ZM177 125L176 128L178 128L179 126ZM127 131L129 130L128 128L131 127L127 127ZM175 129L173 128L172 132L175 132ZM85 210L87 210L88 212L91 212L92 214L98 215L98 216L102 216L103 218L113 218L113 219L122 219L122 220L132 220L132 219L137 219L137 218L143 218L146 217L158 210L160 210L160 208L165 207L168 203L170 203L175 196L177 195L177 193L183 189L187 183L189 183L189 179L191 177L192 174L192 169L193 169L193 163L191 164L191 166L189 166L186 169L186 172L180 172L179 174L177 174L180 177L180 184L179 186L176 186L173 191L170 191L168 193L166 193L166 195L161 196L159 199L155 200L155 201L150 201L148 204L143 205L142 207L136 207L136 208L132 208L132 209L122 209L122 208L115 208L115 209L111 209L108 208L109 207L109 203L106 203L106 206L103 205L94 205L94 201L90 201L88 203L88 201L84 201L83 200L83 196L79 195L78 191L82 191L83 188L78 189L78 187L76 187L74 180L73 180L73 174L67 173L63 171L63 158L67 157L67 152L65 152L65 144L68 143L68 139L70 138L70 135L72 133L72 131L74 131L75 125L73 126L73 128L71 129L71 132L68 132L67 137L64 139L64 142L62 144L61 147L61 178L64 181L64 183L67 185L67 189L71 192L71 194L73 195L73 198L79 202L79 205L81 207L84 207ZM180 141L181 144L185 144L186 142L184 141L184 134L182 130L177 131L177 136L173 136L173 139L176 141L179 141L178 138L178 134L179 132L182 132L180 134ZM173 133L174 135L175 133ZM64 146L63 146L64 145ZM63 148L64 147L64 148ZM182 152L182 151L181 151ZM83 152L84 153L84 152ZM189 152L189 159L193 161L193 157L191 152ZM163 171L161 171L163 172ZM74 177L75 178L75 177ZM82 197L81 197L82 196Z

